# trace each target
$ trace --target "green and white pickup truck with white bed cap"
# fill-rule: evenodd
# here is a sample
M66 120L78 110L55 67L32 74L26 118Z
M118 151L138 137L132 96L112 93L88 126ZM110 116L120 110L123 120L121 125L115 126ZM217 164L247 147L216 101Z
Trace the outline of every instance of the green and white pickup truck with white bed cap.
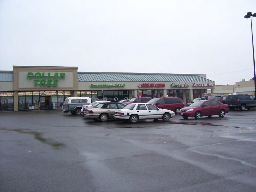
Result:
M99 101L99 99L89 97L67 97L62 105L62 112L68 113L70 111L73 115L81 115L82 106L95 101Z

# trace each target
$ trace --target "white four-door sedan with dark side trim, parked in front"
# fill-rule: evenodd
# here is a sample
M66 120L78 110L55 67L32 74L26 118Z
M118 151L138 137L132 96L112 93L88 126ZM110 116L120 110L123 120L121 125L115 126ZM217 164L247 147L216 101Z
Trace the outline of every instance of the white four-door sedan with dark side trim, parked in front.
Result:
M174 117L175 113L168 109L160 109L149 103L132 103L128 104L123 109L116 109L114 118L123 121L130 120L131 123L136 123L139 119L162 119L168 121Z

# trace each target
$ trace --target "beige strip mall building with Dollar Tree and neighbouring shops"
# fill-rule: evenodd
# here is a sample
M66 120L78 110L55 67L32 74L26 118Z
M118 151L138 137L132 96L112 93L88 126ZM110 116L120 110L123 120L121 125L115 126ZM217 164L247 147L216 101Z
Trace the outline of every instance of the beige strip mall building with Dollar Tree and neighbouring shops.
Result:
M200 97L215 82L199 74L77 72L78 67L13 66L0 71L1 111L61 109L67 97L120 101L133 97Z

